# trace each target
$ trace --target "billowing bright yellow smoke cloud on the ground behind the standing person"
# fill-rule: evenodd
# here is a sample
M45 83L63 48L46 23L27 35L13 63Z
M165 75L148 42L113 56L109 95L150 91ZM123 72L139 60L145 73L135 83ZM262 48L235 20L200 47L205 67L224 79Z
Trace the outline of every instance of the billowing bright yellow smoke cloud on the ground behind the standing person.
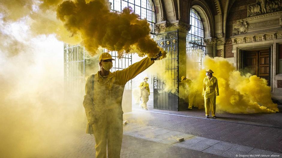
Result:
M192 80L190 93L202 95L202 82L205 70L211 69L218 80L219 96L216 100L217 112L228 113L275 113L277 104L271 100L271 89L265 79L250 74L241 75L235 67L224 58L205 57L202 69L196 79ZM189 78L189 76L188 76ZM202 102L203 97L196 97L195 102Z

